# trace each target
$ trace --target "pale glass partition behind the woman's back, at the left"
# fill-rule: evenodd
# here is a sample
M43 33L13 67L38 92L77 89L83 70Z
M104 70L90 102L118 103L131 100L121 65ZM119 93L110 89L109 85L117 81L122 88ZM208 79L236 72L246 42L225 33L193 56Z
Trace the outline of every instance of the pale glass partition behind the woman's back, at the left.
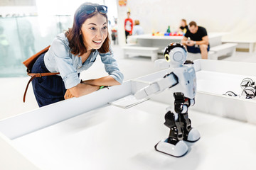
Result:
M72 27L73 16L0 18L0 77L24 77L22 62Z

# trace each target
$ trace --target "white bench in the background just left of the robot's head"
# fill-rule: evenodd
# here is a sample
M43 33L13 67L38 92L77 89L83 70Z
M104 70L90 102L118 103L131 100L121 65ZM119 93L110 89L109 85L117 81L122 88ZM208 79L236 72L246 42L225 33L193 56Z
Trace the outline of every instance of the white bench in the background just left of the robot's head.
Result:
M151 61L157 60L157 52L159 47L140 47L140 46L124 46L124 58L128 58L130 55L133 56L149 56Z

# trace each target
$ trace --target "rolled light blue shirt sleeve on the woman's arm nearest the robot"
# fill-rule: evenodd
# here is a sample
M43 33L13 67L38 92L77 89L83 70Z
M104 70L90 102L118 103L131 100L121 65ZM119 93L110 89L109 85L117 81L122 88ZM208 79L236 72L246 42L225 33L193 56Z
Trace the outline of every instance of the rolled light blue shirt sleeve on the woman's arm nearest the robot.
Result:
M106 72L113 77L119 84L122 84L124 80L124 75L120 72L117 65L117 60L114 59L112 52L100 53L99 54L102 60L102 63L105 65Z

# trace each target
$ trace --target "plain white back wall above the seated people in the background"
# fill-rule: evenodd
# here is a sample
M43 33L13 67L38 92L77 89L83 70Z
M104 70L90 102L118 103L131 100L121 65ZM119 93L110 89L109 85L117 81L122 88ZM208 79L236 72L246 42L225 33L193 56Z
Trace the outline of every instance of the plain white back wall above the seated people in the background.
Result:
M225 39L256 40L255 0L127 0L127 8L145 33L165 32L168 26L176 29L185 18L208 32L231 32Z

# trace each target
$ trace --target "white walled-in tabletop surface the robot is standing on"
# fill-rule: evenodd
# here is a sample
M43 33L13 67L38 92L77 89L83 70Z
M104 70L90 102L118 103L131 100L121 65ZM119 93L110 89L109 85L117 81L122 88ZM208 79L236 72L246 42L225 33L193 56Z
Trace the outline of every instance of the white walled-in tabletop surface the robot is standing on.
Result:
M189 111L201 133L181 158L156 152L168 105L105 106L13 140L41 169L255 169L256 126Z

